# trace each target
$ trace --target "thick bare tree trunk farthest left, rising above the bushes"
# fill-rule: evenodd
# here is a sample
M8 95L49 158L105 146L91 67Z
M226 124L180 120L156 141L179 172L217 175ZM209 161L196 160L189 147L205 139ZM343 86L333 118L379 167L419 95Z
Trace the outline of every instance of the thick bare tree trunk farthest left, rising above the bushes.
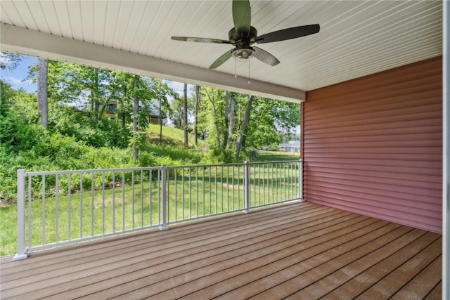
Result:
M49 128L48 81L49 60L37 60L37 108L40 113L39 122L45 129Z

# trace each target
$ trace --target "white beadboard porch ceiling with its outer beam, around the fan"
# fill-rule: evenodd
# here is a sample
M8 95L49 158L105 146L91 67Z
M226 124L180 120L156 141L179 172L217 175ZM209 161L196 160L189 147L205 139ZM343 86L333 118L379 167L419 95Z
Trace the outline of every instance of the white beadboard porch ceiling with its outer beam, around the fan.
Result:
M238 79L233 76L233 59L214 71L204 71L232 46L170 39L228 39L233 27L231 1L2 0L0 6L2 36L9 34L9 38L2 37L4 50L69 58L79 63L110 59L107 66L126 71L139 70L131 63L127 66L127 61L136 59L139 65L142 58L142 69L148 68L148 74L246 89L248 63L237 63ZM278 88L279 91L266 94L304 100L303 91L442 55L442 1L250 0L250 6L252 26L259 34L321 25L318 34L257 45L281 63L271 67L255 58L250 60L250 92L258 93L259 89L264 94ZM17 27L27 30L15 31ZM34 46L39 43L33 39L41 38L48 41L46 45ZM72 45L74 40L82 41L70 46L79 48L78 52L64 48L63 44ZM91 44L98 46L90 47ZM117 51L109 51L111 48ZM95 53L98 49L104 50L104 56L114 57L103 58ZM127 56L130 53L133 56ZM122 54L122 60L117 58ZM118 63L110 63L113 60ZM147 60L150 63L144 63ZM153 65L158 65L158 70L150 70ZM266 90L258 84L267 84ZM299 96L283 95L283 89L294 94L298 91Z

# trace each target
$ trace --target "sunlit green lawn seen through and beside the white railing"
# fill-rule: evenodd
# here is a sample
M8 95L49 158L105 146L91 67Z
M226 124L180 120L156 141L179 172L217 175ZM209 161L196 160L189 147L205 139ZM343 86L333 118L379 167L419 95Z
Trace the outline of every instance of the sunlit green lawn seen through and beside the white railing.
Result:
M129 172L131 171L123 174L123 177L117 176L117 181L105 185L104 190L90 188L89 182L84 182L82 188L78 186L78 190L74 189L76 185L71 185L70 195L64 195L68 194L64 193L64 190L68 190L67 183L63 184L67 181L59 178L57 188L46 188L49 193L44 199L41 191L38 192L31 207L25 209L26 218L29 211L32 216L32 245L101 235L103 228L105 233L110 233L158 226L162 220L160 185L155 180L158 176L152 174L150 179L150 173L136 172L133 174L134 183L122 181L124 177L131 178ZM274 164L253 164L250 167L250 206L296 198L297 172L295 165L281 167ZM36 177L34 179L39 181L39 176ZM49 177L46 182L54 182L51 181L51 176L46 177ZM167 183L169 221L243 209L243 177L242 166L172 169ZM58 190L58 199L54 190ZM0 207L0 214L0 255L14 254L17 236L16 205ZM25 235L28 236L28 233Z

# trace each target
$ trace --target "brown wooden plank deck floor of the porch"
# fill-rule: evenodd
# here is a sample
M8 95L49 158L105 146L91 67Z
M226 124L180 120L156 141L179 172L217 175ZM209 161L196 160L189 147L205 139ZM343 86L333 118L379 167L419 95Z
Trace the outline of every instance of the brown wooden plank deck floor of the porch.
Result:
M1 299L440 299L442 237L308 202L1 259Z

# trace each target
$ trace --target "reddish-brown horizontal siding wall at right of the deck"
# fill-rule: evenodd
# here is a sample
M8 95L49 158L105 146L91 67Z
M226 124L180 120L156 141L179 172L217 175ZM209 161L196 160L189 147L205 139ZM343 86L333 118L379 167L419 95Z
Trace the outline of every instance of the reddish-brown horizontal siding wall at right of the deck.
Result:
M307 92L304 199L442 233L442 57Z

